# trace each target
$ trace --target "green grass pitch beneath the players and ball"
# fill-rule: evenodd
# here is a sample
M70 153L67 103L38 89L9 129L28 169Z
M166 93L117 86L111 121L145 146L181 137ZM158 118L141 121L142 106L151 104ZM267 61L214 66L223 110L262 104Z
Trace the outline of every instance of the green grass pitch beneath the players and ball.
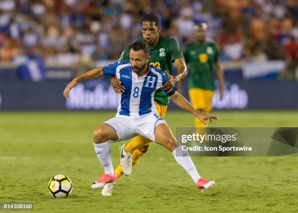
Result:
M298 112L213 112L216 127L296 127ZM298 157L192 157L199 173L216 180L199 193L172 154L153 144L109 197L92 190L103 168L93 130L115 112L0 113L0 202L34 203L34 212L297 212ZM194 126L193 116L168 111L169 127ZM114 168L118 146L112 144ZM55 199L50 178L65 174L74 190ZM5 211L3 211L5 212Z

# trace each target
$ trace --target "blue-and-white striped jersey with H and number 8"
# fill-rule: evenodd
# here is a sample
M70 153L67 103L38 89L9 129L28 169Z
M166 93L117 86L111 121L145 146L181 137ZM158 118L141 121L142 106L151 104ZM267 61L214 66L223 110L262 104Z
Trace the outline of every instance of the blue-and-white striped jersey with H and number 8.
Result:
M160 89L168 80L168 76L160 69L149 65L150 72L141 78L131 69L130 61L117 61L103 68L105 75L116 76L125 87L125 92L119 94L117 115L139 117L156 112L154 92ZM174 87L168 96L175 93Z

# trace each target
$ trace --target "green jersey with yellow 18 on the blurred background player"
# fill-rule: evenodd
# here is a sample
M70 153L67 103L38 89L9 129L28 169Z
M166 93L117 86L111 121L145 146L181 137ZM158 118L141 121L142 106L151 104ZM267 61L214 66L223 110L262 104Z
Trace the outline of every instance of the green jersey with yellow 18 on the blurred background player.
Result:
M184 51L186 63L190 65L188 89L215 90L213 64L218 61L218 50L214 43L187 44Z

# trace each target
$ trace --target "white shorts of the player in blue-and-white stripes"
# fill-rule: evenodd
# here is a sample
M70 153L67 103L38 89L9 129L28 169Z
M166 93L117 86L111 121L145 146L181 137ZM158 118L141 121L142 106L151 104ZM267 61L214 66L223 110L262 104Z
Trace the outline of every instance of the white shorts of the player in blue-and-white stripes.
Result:
M110 125L119 137L118 140L108 142L128 140L137 135L155 141L155 127L160 123L167 124L165 119L160 118L157 113L149 113L140 117L117 115L104 123Z

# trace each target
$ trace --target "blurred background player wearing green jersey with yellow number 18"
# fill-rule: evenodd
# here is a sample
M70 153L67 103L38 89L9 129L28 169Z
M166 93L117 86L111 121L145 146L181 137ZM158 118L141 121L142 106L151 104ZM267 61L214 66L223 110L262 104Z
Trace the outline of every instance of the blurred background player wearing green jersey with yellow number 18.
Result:
M207 42L207 24L199 23L194 27L196 41L186 45L184 57L189 63L188 92L195 109L210 112L212 109L212 97L216 90L214 82L213 65L219 81L220 98L223 99L223 68L218 59L218 50L212 42ZM182 84L182 81L180 82ZM195 119L196 127L205 125Z

